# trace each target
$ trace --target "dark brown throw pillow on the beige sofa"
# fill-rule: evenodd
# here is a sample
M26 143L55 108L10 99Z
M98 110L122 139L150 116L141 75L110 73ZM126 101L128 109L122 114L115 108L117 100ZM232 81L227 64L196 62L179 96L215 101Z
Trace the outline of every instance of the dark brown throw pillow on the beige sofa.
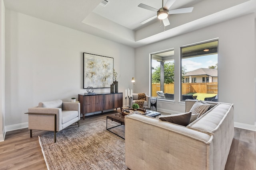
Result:
M189 124L191 117L191 112L187 113L178 113L167 116L159 116L159 119L162 121L168 121L171 123L175 123L177 125L187 126Z

